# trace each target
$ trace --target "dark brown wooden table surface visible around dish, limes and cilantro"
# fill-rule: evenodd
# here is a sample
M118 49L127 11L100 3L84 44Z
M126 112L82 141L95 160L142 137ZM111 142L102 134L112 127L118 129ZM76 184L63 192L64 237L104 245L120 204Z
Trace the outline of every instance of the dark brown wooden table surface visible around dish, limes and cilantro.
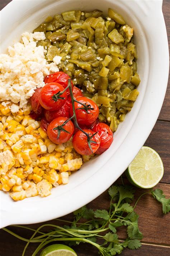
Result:
M2 9L10 0L0 0L0 9ZM167 28L167 35L170 37L170 0L163 0L163 13ZM14 14L15 15L15 14ZM170 45L170 42L169 42ZM161 188L167 197L170 197L170 79L167 92L162 106L159 118L152 130L150 136L146 140L146 146L155 149L161 156L164 163L164 177L156 186ZM126 178L124 176L124 181ZM142 194L142 189L136 188L136 197ZM90 208L108 208L107 191L101 194L94 201L89 203ZM139 201L136 212L139 217L139 227L143 233L142 247L139 250L131 251L125 249L122 256L159 256L170 255L170 214L163 215L160 203L155 201L151 196L145 195ZM12 212L11 212L12 214ZM42 213L43 214L43 213ZM65 217L67 220L72 218L72 214ZM48 222L47 222L48 223ZM53 220L50 223L57 224ZM36 228L39 224L28 225ZM24 237L30 237L27 231L17 228L10 228L15 233ZM119 238L126 238L126 233L119 232ZM21 256L25 242L11 236L4 230L0 230L0 256ZM31 256L36 244L31 244L26 256ZM79 256L97 256L98 251L94 247L81 244L76 247Z

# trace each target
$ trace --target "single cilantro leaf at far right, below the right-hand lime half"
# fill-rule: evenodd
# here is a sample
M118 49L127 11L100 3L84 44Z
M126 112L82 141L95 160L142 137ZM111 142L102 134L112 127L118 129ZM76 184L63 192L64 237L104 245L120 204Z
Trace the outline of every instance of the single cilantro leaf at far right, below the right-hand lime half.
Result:
M170 198L166 199L163 191L159 188L151 190L152 196L162 204L162 210L164 214L170 212Z

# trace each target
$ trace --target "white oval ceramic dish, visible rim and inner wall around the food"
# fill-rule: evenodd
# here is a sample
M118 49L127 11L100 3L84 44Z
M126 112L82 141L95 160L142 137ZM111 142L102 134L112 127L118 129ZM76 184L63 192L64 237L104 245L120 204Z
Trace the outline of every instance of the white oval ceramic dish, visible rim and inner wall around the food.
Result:
M114 134L112 146L70 176L67 185L52 189L46 198L31 197L14 202L0 192L0 228L51 220L80 208L104 192L127 168L155 125L167 86L169 51L162 0L14 0L1 11L1 52L32 31L48 15L66 10L108 8L121 13L134 28L138 51L140 95L126 120ZM5 26L3 25L5 24ZM163 61L163 65L160 64Z

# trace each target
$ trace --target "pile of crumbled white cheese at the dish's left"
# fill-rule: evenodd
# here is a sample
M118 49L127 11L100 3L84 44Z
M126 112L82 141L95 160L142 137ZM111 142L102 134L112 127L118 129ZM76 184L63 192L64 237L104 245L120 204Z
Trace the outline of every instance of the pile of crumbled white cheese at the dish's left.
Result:
M22 42L8 47L8 54L0 54L0 101L11 100L23 108L37 87L44 86L44 77L59 71L57 63L61 57L56 56L55 62L48 64L43 46L36 46L36 40L44 40L44 32L22 35ZM12 112L16 105L11 106Z

